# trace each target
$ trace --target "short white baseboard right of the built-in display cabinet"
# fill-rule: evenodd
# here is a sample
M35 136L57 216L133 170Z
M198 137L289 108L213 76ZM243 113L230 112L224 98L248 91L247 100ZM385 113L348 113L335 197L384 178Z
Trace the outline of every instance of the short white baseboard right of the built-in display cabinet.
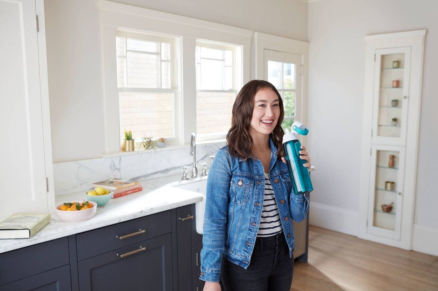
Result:
M414 224L412 250L438 256L438 228Z

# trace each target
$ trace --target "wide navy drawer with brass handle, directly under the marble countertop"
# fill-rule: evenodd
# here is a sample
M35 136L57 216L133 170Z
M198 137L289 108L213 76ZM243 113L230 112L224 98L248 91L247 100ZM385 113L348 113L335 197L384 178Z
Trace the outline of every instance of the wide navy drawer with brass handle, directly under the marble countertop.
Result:
M140 229L144 232L139 232ZM76 235L78 261L172 231L170 210Z

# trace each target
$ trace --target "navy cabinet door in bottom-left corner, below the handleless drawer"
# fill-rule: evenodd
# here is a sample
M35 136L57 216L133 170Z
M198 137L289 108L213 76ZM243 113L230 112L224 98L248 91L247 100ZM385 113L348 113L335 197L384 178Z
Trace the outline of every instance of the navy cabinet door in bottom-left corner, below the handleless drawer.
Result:
M0 286L0 291L71 291L70 265Z

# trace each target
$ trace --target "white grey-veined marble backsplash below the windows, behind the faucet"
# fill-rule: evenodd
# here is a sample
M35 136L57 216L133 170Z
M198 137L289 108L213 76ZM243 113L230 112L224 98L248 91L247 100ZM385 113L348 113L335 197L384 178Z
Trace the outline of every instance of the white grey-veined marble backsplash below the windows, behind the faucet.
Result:
M198 175L201 175L202 162L210 167L209 156L223 147L225 142L208 145L196 145ZM166 175L183 174L181 166L187 165L190 177L193 156L189 148L157 149L137 151L133 154L108 158L96 158L81 161L68 161L53 164L55 195L64 195L86 191L94 182L110 178L146 180Z

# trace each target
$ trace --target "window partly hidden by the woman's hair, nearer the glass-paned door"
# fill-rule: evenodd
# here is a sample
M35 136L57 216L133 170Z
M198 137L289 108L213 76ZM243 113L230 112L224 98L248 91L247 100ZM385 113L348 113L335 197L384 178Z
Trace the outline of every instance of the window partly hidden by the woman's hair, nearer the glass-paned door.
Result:
M224 139L231 110L242 87L242 49L196 42L196 132L199 141Z

